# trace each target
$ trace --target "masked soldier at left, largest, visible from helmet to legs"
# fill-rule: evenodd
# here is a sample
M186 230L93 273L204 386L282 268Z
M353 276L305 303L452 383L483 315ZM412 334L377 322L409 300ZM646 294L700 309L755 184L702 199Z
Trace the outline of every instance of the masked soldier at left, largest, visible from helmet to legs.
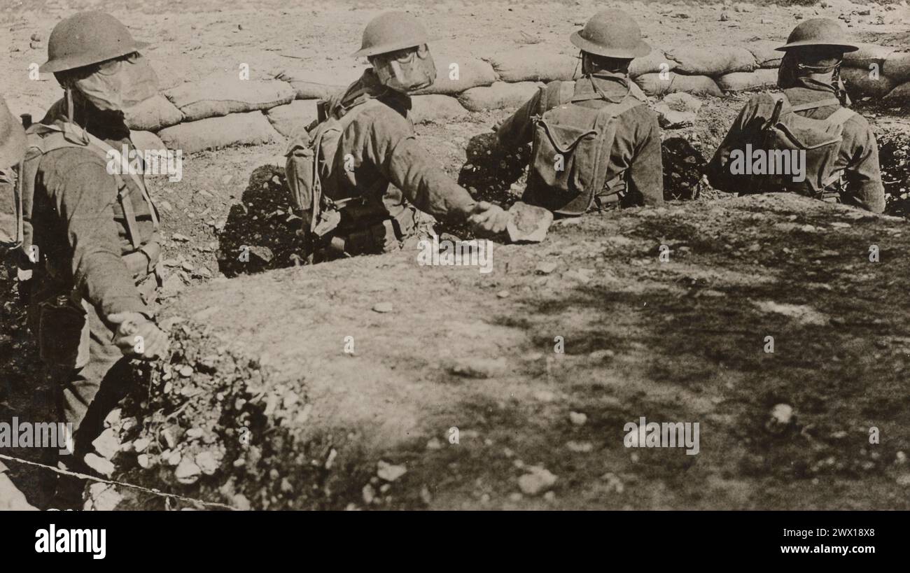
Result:
M160 252L157 210L144 176L121 174L122 146L134 149L123 110L155 95L157 77L126 26L83 12L57 24L47 62L65 96L26 130L24 196L34 196L30 319L40 355L82 459L131 379L129 360L167 352L154 322ZM29 240L30 238L30 240ZM26 251L27 252L27 251ZM59 503L81 499L81 482L57 488ZM76 498L78 496L78 498Z

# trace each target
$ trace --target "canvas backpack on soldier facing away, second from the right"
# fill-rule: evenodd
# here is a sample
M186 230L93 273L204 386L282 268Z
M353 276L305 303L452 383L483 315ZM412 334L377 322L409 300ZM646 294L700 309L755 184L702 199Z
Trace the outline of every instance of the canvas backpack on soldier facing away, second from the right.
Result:
M581 215L591 208L607 183L616 118L644 103L629 92L614 101L589 81L593 95L579 95L571 82L541 88L542 113L534 120L525 200L560 215ZM606 103L579 105L592 99Z

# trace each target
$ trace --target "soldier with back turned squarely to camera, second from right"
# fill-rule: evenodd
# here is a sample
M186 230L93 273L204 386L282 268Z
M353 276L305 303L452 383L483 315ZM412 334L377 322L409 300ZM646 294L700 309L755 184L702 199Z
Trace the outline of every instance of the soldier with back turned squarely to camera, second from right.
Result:
M621 10L593 15L570 40L581 78L541 87L497 130L503 148L533 142L522 200L562 216L662 203L660 126L629 84L629 64L651 46Z

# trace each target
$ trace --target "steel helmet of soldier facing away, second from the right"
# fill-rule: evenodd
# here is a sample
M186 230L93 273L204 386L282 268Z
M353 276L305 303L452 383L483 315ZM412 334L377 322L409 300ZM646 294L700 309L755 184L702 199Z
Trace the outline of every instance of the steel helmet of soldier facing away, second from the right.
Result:
M651 53L651 46L642 40L641 28L622 10L602 10L591 16L570 40L582 52L604 57L632 59Z

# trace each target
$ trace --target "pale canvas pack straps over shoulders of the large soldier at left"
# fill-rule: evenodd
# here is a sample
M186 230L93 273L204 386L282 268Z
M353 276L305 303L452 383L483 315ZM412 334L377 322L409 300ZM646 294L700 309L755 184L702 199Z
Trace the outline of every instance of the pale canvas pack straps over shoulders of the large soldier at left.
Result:
M35 178L41 157L56 149L81 147L101 156L105 161L108 161L110 157L115 157L120 164L122 162L119 151L76 124L64 120L57 120L52 124L33 124L25 130L25 136L27 142L25 159L18 166L15 186L0 186L0 246L16 252L20 266L28 268L36 266L40 260L40 251L33 246L35 230L32 226L32 210L35 204ZM123 209L129 240L135 250L133 255L138 255L133 256L135 260L130 259L130 255L126 255L124 258L130 270L137 274L138 266L146 266L149 261L154 266L157 262L159 253L157 212L148 196L142 177L131 174L143 199L148 203L156 231L154 236L141 236L133 204L127 196L128 188L124 185L121 176L117 174L112 174L112 176L116 179L117 199ZM145 254L140 254L140 251Z

